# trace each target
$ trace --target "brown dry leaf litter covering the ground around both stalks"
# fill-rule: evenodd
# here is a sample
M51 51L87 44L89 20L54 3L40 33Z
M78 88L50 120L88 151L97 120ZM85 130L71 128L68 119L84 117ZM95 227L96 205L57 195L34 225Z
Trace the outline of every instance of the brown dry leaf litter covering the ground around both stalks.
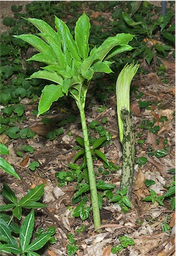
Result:
M11 5L26 5L31 1L1 1L1 21L4 17L13 17L11 12ZM23 7L24 10L24 7ZM1 27L1 32L6 31L7 27ZM151 109L139 108L138 100L135 93L132 93L130 98L132 121L135 130L135 158L145 157L149 152L149 147L154 150L163 149L163 143L167 138L167 147L169 153L163 158L156 158L155 156L147 156L147 163L139 166L135 164L134 170L134 184L132 195L132 209L127 213L122 213L120 207L116 203L110 203L104 199L101 211L102 232L96 233L92 220L92 214L85 221L80 218L72 217L72 211L75 205L72 203L74 195L74 186L76 182L68 183L66 186L58 188L58 181L55 178L56 172L65 171L70 162L72 162L76 155L74 146L76 144L76 136L82 136L80 128L80 119L78 111L74 103L67 102L66 106L52 106L52 114L46 116L50 119L50 124L45 125L41 122L41 118L35 118L31 114L33 109L37 109L37 103L34 105L26 104L27 121L21 124L21 128L29 127L36 132L34 138L26 139L25 143L35 148L33 154L25 154L23 158L19 159L17 148L24 144L20 138L11 140L4 134L0 136L0 142L7 143L9 148L9 156L6 160L15 167L21 180L16 180L12 176L7 175L0 170L1 187L4 183L8 184L15 192L18 199L23 197L29 188L44 183L44 197L43 203L48 205L47 209L35 211L35 231L43 227L47 229L50 225L56 227L56 243L48 245L39 253L42 256L66 256L66 247L68 245L68 233L72 233L75 239L75 244L78 245L79 250L76 251L78 256L113 256L110 249L114 245L119 245L118 237L126 235L131 237L135 245L128 246L119 256L169 256L174 255L175 241L173 239L175 234L175 214L171 211L169 203L159 205L157 202L145 202L142 199L149 196L149 190L145 186L144 181L154 180L155 184L150 186L155 190L157 195L165 193L164 186L169 186L173 182L173 175L169 174L167 170L175 167L175 120L173 118L175 113L175 63L171 61L163 61L165 64L165 74L159 76L153 69L148 70L148 74L139 74L135 76L132 82L132 88L137 88L138 92L145 95L145 101L156 102L151 105ZM108 76L103 76L104 82L108 83ZM116 118L116 97L114 94L108 98L104 104L104 110L98 112L102 108L102 104L98 102L95 97L94 87L96 84L90 84L88 98L86 102L86 120L90 123L92 120L97 120L102 124L102 119L107 118L104 127L112 135L110 144L106 145L101 150L106 154L106 158L113 162L116 166L122 166L122 148L118 139L118 122ZM64 126L64 134L58 136L56 140L50 141L46 139L48 130L56 128L58 121L66 118L69 114L77 116L76 122L66 124ZM167 120L159 122L161 116L166 116ZM156 126L160 127L158 134L153 134L148 130L139 128L139 125L144 120L156 119ZM141 137L138 138L139 133ZM91 136L98 138L95 130L91 132ZM146 143L140 144L138 140L144 140ZM156 143L156 140L158 143ZM33 161L39 162L40 166L31 172L29 164ZM76 164L82 163L78 160ZM95 171L97 172L97 179L104 180L110 184L114 184L116 189L120 186L121 168L117 172L104 176L98 172L99 167L103 167L100 160L95 160ZM3 197L0 195L0 205L4 204ZM169 226L171 231L165 233L161 229L161 225L169 215ZM23 217L24 218L24 217ZM86 229L81 233L76 232L82 225Z

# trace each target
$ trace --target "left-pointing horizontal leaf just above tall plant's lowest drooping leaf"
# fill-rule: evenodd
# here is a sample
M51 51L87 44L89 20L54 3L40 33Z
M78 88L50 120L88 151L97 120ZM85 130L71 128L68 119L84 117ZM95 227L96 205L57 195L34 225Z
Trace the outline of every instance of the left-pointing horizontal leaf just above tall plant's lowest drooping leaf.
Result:
M62 84L63 82L62 77L59 76L56 72L49 72L47 70L39 70L37 72L34 72L27 79L32 79L32 78L43 78L46 80L50 80L52 82L56 82L57 84Z

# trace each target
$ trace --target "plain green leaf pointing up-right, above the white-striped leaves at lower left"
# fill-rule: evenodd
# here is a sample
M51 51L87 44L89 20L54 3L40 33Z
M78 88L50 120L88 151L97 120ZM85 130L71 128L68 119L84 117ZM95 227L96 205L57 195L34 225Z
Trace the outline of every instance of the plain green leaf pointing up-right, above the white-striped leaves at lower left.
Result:
M19 205L23 206L23 204L30 202L30 201L38 201L41 199L44 193L44 184L38 185L35 188L29 190L27 195L25 195L19 201Z

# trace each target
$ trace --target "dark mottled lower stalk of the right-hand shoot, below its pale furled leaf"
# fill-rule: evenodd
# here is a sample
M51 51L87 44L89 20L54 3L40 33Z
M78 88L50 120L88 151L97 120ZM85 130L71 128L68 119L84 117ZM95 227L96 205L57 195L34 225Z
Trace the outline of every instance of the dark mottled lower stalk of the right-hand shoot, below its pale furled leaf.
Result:
M124 123L124 138L122 140L122 177L120 182L120 190L127 187L127 195L128 197L131 197L133 187L135 139L130 112L127 108L122 108L121 116Z

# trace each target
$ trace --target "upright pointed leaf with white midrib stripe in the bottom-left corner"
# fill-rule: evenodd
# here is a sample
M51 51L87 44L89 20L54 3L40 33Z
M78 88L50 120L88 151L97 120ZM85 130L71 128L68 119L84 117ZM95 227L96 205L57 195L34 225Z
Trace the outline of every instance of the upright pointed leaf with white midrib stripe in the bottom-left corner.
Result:
M27 251L27 247L31 241L33 235L33 229L35 226L35 212L32 210L21 225L19 233L19 243L23 252Z

